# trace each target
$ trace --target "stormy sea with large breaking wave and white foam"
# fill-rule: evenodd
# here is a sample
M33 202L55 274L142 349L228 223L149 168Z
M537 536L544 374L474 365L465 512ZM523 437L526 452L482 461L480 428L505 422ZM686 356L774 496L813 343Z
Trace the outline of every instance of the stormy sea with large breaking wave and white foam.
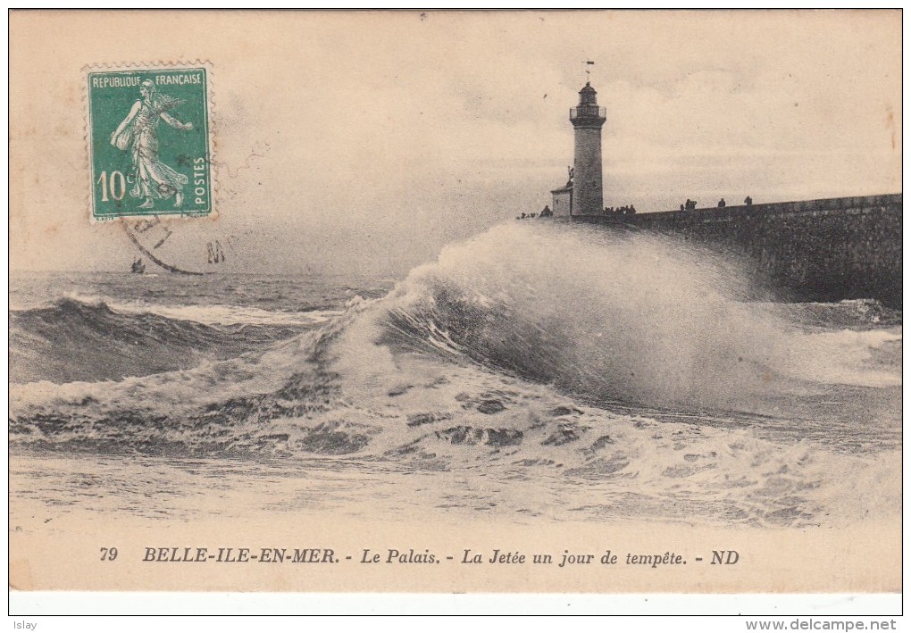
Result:
M19 273L10 322L14 521L901 515L901 312L760 301L660 236L515 223L399 280Z

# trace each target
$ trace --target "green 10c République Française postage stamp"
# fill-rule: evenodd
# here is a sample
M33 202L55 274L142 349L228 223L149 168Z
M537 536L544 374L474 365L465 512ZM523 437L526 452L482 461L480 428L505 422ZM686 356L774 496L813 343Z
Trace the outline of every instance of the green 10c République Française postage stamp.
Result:
M210 76L204 64L88 69L93 220L213 212Z

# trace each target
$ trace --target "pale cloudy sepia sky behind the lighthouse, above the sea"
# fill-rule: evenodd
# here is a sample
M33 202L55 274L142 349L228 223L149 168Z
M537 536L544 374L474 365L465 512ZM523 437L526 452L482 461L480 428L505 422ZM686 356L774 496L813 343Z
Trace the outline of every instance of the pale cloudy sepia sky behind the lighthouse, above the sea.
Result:
M897 11L15 13L13 268L128 266L87 220L81 68L196 58L220 215L182 220L170 255L231 237L230 270L399 275L540 210L586 59L608 206L901 190Z

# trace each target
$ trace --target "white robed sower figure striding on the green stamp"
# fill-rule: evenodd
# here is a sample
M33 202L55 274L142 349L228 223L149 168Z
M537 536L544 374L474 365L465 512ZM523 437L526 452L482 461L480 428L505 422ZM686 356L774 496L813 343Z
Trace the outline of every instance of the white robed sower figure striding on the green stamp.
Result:
M168 110L184 103L181 99L160 95L155 84L145 80L139 86L139 94L129 114L111 134L111 145L126 150L132 147L133 186L129 195L144 198L139 209L151 209L154 199L169 199L174 196L174 206L183 203L183 188L189 179L159 161L159 120L171 128L193 129L192 123L180 123L168 114Z

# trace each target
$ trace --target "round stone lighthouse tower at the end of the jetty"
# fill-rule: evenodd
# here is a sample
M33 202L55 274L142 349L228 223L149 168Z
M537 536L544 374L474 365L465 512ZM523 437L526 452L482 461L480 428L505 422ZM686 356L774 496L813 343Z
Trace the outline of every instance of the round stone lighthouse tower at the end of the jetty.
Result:
M601 183L601 126L607 120L598 106L598 93L591 84L578 91L578 106L569 108L576 129L573 166L572 215L599 215L604 209Z

